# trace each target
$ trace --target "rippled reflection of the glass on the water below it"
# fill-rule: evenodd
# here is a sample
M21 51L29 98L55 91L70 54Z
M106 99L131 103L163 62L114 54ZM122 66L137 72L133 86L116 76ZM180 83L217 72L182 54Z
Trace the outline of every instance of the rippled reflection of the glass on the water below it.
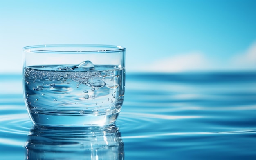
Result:
M115 125L105 128L34 125L25 148L26 160L124 160L124 142Z

